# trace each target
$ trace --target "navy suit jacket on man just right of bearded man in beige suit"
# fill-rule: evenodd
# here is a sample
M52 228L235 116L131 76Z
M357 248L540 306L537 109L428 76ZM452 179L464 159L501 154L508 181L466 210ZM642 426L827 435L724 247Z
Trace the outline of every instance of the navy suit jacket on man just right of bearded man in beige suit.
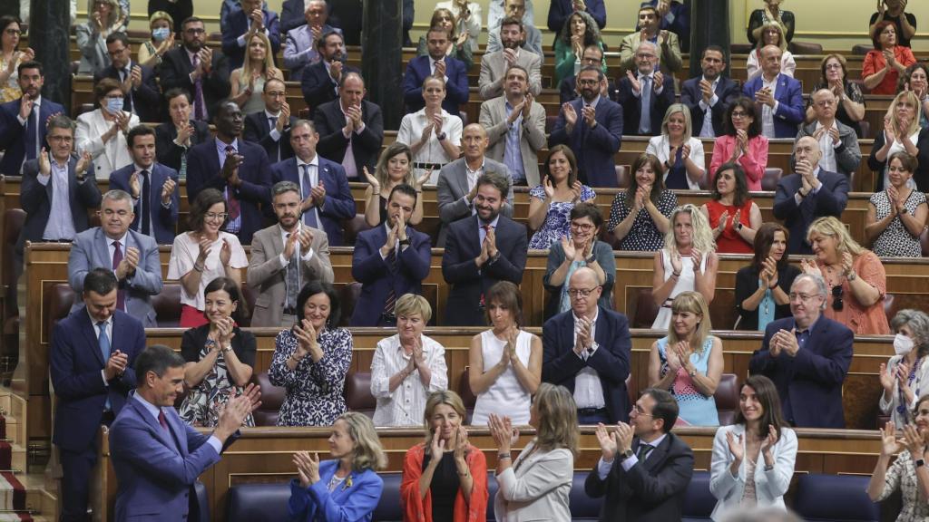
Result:
M351 258L351 277L361 283L361 296L351 316L351 326L382 326L381 314L390 289L399 297L422 294L422 282L429 275L432 244L429 236L406 228L410 246L397 256L397 272L391 273L381 257L381 247L387 241L385 224L365 230L355 240Z

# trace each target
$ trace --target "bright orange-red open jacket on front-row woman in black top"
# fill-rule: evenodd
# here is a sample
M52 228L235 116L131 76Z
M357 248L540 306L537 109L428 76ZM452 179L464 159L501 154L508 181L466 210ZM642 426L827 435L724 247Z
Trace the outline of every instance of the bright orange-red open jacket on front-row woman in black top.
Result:
M425 498L419 494L419 479L423 476L425 450L425 443L417 444L407 451L403 459L403 480L400 483L403 522L433 522L432 493L426 491ZM459 489L455 497L454 518L449 521L436 520L435 522L486 522L487 520L487 460L483 451L468 444L464 461L473 477L471 502L464 501L464 493Z

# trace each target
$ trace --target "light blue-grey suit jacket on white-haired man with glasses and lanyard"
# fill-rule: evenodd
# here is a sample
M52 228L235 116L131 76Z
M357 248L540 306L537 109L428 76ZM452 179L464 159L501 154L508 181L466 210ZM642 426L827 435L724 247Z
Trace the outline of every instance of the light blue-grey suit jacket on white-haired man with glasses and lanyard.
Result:
M111 241L111 240L110 240ZM112 268L110 241L102 228L88 228L74 237L71 255L68 257L68 282L75 294L71 311L84 307L80 295L84 293L84 278L94 268ZM135 230L126 232L126 244L121 245L123 254L129 248L138 249L136 271L119 281L120 290L125 291L125 312L142 321L146 328L157 328L155 309L151 296L162 293L162 265L158 257L158 243L150 236Z

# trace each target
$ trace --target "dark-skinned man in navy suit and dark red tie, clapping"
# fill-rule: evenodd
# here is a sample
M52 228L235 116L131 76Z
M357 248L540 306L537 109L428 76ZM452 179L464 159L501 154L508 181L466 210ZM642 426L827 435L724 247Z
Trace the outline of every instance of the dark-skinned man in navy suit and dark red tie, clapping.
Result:
M261 207L270 208L271 168L268 154L259 145L242 141L242 109L234 101L219 103L216 138L197 144L187 153L187 197L192 202L203 189L217 189L226 196L229 220L226 231L252 244L252 236L264 228Z

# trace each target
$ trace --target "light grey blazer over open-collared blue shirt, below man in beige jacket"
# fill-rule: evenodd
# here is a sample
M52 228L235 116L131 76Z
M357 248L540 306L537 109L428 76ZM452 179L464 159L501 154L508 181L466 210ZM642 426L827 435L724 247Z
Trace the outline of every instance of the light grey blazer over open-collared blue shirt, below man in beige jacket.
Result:
M487 157L497 162L504 161L506 135L510 125L506 123L506 98L501 96L480 104L480 124L487 129L491 146ZM533 103L529 119L519 125L519 151L522 153L523 171L530 188L539 185L538 150L545 147L545 109L541 103Z

